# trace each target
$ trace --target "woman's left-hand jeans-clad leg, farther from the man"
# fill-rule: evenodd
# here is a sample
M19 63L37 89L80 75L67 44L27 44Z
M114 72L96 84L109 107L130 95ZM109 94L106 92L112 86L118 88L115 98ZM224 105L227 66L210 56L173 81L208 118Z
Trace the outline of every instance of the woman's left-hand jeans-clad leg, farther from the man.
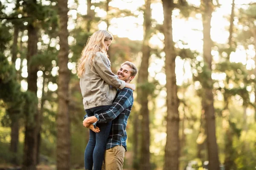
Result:
M90 130L90 139L84 151L84 168L87 170L93 169L93 150L96 144L95 132Z

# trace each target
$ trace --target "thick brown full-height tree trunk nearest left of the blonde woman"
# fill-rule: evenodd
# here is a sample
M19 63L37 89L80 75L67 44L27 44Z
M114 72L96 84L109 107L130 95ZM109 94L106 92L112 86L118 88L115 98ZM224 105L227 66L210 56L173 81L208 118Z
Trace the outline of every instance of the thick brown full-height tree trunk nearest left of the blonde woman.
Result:
M60 51L58 53L58 112L57 122L57 169L70 170L70 116L68 112L69 103L69 81L70 71L68 63L68 31L67 31L67 0L58 0L58 15L60 18Z

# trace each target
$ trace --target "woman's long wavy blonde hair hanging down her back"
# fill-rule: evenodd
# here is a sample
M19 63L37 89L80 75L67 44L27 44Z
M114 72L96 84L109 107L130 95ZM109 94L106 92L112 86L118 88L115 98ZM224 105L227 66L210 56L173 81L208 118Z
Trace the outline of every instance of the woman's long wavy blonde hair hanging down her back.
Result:
M87 62L90 54L92 54L91 60L95 57L96 52L102 52L107 55L105 46L105 41L107 40L113 40L113 35L107 30L99 30L89 37L77 62L77 75L79 78L82 77L85 62Z

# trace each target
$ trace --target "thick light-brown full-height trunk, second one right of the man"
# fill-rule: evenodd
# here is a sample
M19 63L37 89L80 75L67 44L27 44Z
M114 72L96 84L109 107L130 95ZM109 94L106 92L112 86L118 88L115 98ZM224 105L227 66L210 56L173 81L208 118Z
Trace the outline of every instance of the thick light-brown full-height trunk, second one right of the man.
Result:
M166 91L167 91L167 127L166 127L166 147L164 170L179 169L179 112L178 97L175 75L175 49L172 39L172 10L174 9L173 0L163 1L163 29L164 29L164 52L166 58Z

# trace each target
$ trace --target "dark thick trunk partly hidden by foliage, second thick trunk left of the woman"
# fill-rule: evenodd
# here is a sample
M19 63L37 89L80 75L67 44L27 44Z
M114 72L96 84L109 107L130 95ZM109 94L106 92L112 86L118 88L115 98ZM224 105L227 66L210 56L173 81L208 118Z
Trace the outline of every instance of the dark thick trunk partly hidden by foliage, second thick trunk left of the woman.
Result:
M36 0L33 0L32 3L36 4ZM27 63L28 63L28 91L31 91L37 95L37 72L38 67L30 64L33 57L37 54L37 28L33 26L32 23L28 25L28 54L27 54ZM23 156L23 170L35 170L36 169L36 155L37 155L37 120L38 112L37 105L35 107L35 113L32 113L33 123L29 123L26 120L25 125L25 144L24 144L24 156Z

